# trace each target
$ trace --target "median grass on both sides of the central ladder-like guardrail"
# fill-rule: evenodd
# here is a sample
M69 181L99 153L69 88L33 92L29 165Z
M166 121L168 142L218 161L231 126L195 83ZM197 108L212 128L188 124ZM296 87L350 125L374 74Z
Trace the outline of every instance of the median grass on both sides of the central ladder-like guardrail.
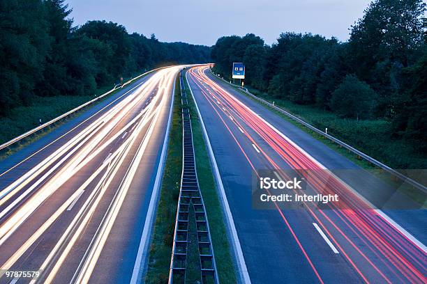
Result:
M184 77L185 81L185 77ZM186 84L188 90L188 85ZM153 239L150 247L149 265L144 283L167 283L170 269L170 258L172 253L172 244L174 238L175 216L177 214L177 203L179 198L179 184L182 171L182 118L181 118L181 92L179 91L179 79L175 85L175 97L172 113L172 126L170 130L170 141L167 148L167 157L165 162L165 171L162 179L162 188L160 191L160 201L156 212L154 223ZM223 212L218 199L215 181L213 180L212 169L209 164L207 148L202 136L202 128L197 118L195 105L190 92L187 92L188 107L190 109L191 126L193 128L193 143L195 147L195 160L197 168L197 178L199 180L200 191L202 192L204 205L209 220L209 229L213 243L213 252L215 253L216 266L220 283L236 283L236 275L232 257L230 253L230 244L227 239ZM190 206L190 216L193 215ZM195 226L194 219L189 220L189 235L192 236L191 226ZM191 241L191 240L190 240ZM193 242L197 237L193 236ZM197 246L188 249L188 275L187 283L191 279L197 283L196 274L191 271L199 268L199 258L195 255Z

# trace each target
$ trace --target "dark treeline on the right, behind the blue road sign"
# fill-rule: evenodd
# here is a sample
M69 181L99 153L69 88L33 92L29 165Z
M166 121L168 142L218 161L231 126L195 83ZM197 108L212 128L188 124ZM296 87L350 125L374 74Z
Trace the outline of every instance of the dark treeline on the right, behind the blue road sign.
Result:
M390 139L427 152L427 22L422 0L377 0L350 29L350 39L282 33L265 45L253 34L213 46L214 69L230 78L246 65L245 83L274 97L354 120L386 119ZM372 137L371 137L372 139Z

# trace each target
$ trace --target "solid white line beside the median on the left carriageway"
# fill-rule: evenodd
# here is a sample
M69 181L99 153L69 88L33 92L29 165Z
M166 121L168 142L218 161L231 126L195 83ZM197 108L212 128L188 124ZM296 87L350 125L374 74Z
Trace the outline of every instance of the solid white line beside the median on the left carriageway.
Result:
M147 216L145 217L144 230L142 230L141 242L137 252L137 258L135 260L135 266L133 267L132 278L130 278L130 284L139 284L142 281L142 274L145 270L145 261L148 257L149 239L151 235L151 229L153 227L154 212L156 211L156 203L158 191L160 191L161 179L163 176L163 165L165 164L165 152L167 150L167 143L169 142L170 125L172 123L173 104L175 96L175 84L177 77L174 79L172 86L172 100L170 102L169 118L167 121L167 127L165 132L165 140L163 141L162 153L160 154L160 161L158 163L156 180L154 181L153 192L151 193L151 199L149 208L147 210Z

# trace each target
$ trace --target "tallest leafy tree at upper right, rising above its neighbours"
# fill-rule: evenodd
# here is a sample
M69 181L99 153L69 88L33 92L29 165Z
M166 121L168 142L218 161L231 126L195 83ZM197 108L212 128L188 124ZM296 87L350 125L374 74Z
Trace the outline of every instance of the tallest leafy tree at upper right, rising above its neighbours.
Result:
M419 57L426 32L423 0L377 0L352 26L349 49L355 74L377 92L377 116L392 117L401 72Z

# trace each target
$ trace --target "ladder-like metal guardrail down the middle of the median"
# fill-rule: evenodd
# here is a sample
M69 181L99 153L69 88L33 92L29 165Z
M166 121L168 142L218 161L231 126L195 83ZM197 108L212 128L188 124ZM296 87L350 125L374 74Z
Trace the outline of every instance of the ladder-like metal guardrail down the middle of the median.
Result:
M183 85L182 72L180 74L181 102L188 105L185 87ZM195 155L193 145L193 132L191 129L190 113L188 108L182 109L183 119L183 163L181 173L181 187L175 219L174 241L172 246L172 258L170 262L169 283L186 282L186 263L188 253L188 226L190 207L195 214L195 228L197 232L197 247L200 260L200 276L202 283L219 283L216 271L215 257L211 243L211 233L207 220L206 210L195 168ZM210 281L209 281L210 280Z

